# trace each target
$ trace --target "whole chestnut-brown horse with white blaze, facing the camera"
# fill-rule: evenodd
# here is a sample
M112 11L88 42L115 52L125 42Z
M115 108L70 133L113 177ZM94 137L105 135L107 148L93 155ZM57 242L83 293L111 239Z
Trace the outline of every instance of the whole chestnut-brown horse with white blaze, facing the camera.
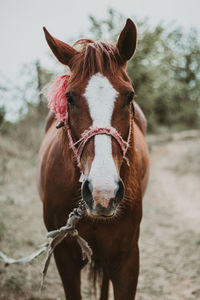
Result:
M49 231L63 226L83 199L86 213L77 229L101 268L100 299L108 299L109 281L116 300L135 299L149 173L146 120L136 103L133 118L134 90L126 73L136 49L136 27L128 19L116 45L85 39L76 43L79 50L44 30L57 59L70 68L67 124L56 129L55 115L49 115L38 158L45 225ZM74 159L78 143L72 149L66 126L74 143L88 135L79 156L75 153L79 166ZM66 299L81 299L80 271L87 261L78 244L68 237L54 256Z

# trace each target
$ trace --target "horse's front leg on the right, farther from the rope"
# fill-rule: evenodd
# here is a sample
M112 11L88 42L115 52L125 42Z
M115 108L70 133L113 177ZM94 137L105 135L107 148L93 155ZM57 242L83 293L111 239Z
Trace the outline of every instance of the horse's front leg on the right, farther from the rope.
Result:
M126 253L126 255L118 262L115 271L112 272L111 280L114 289L115 300L134 300L139 274L139 249L136 245L135 249Z

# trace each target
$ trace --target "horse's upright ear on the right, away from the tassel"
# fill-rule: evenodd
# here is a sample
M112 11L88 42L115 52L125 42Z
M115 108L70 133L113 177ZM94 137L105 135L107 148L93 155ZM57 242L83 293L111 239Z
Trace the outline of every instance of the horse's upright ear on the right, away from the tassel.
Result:
M137 29L131 19L127 19L126 25L120 33L117 41L122 63L126 63L134 54L137 44Z

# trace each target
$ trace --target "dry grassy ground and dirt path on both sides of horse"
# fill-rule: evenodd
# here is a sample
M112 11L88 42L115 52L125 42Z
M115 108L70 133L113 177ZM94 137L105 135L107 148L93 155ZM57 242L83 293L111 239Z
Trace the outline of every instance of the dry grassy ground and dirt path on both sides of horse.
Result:
M45 235L35 156L2 137L0 152L0 249L16 257L30 253ZM199 175L200 137L152 147L137 300L200 299ZM38 293L42 261L6 269L0 264L0 299L63 300L54 263ZM83 295L89 299L86 286Z

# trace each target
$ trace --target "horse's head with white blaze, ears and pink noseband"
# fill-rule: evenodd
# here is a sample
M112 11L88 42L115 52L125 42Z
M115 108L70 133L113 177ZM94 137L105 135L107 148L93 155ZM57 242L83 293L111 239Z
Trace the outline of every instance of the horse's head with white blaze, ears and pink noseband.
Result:
M124 197L120 170L127 163L134 96L126 65L136 49L136 27L128 19L116 45L84 39L73 47L44 31L54 55L70 68L68 126L75 147L85 139L79 158L88 215L112 217Z

